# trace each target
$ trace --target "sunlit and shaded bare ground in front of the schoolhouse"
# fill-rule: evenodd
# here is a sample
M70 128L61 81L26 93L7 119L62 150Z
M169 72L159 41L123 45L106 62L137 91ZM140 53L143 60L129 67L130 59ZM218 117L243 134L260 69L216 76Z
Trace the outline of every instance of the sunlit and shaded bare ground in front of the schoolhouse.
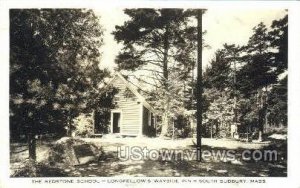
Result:
M287 144L286 140L269 139L263 143L247 143L229 139L203 138L202 150L217 152L232 150L236 152L238 160L120 160L117 156L117 146L147 147L148 150L182 149L191 151L195 149L191 138L180 140L164 140L161 138L86 138L86 142L93 143L102 148L104 154L98 161L76 166L49 166L45 158L52 143L38 142L37 163L38 176L75 176L75 177L103 177L103 176L229 176L229 177L286 177L287 176ZM23 147L23 149L22 149ZM244 150L276 150L277 161L239 160ZM28 156L25 146L11 145L11 174L13 176L26 176L17 173L22 168ZM17 174L17 175L16 175Z

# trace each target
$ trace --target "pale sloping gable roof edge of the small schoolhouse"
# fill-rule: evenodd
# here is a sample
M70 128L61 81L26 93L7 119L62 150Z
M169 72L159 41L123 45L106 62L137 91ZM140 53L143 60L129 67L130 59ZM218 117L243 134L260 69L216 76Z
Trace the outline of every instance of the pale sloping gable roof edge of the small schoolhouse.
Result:
M150 110L154 114L158 114L156 110L146 101L145 97L143 97L136 89L135 86L133 86L129 81L127 81L123 75L119 72L116 72L111 81L108 83L113 84L112 81L116 78L119 77L126 85L126 87L139 99L139 101L146 107L148 110Z

